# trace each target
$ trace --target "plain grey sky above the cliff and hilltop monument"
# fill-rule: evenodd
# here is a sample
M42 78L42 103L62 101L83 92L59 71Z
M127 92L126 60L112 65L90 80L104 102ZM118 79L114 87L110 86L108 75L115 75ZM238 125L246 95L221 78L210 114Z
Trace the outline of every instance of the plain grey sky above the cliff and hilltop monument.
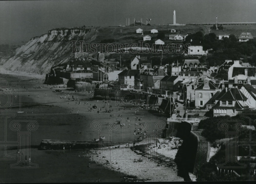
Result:
M54 28L256 22L256 0L47 0L0 1L0 44L24 44Z

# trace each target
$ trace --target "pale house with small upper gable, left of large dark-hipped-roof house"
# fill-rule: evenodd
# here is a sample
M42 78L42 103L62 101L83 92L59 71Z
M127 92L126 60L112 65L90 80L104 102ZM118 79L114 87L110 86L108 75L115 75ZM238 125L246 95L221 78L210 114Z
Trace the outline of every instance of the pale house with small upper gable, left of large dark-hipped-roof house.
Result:
M195 106L204 107L217 91L219 91L218 86L209 78L205 78L203 83L195 89Z

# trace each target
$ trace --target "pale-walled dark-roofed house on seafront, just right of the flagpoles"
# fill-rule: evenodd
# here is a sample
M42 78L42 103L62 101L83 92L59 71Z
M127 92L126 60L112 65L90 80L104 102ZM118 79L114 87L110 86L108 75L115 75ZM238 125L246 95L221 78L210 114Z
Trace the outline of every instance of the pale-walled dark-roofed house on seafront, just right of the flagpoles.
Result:
M131 88L140 86L140 71L139 70L123 70L118 74L118 83L120 86Z

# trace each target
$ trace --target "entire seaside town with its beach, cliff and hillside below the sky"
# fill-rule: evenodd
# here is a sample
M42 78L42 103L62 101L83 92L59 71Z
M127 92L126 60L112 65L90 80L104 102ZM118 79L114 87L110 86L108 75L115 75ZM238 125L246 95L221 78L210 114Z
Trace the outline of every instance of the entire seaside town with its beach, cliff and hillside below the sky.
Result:
M0 182L255 181L256 22L182 13L1 44Z

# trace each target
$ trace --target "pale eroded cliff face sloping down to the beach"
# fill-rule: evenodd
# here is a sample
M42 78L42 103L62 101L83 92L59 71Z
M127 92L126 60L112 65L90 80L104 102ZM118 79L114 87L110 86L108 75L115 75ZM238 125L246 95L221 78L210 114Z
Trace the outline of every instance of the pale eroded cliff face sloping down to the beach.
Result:
M71 41L88 42L95 36L95 28L53 29L48 34L31 38L10 56L1 58L1 67L10 71L46 73L52 66L68 61L72 52Z

